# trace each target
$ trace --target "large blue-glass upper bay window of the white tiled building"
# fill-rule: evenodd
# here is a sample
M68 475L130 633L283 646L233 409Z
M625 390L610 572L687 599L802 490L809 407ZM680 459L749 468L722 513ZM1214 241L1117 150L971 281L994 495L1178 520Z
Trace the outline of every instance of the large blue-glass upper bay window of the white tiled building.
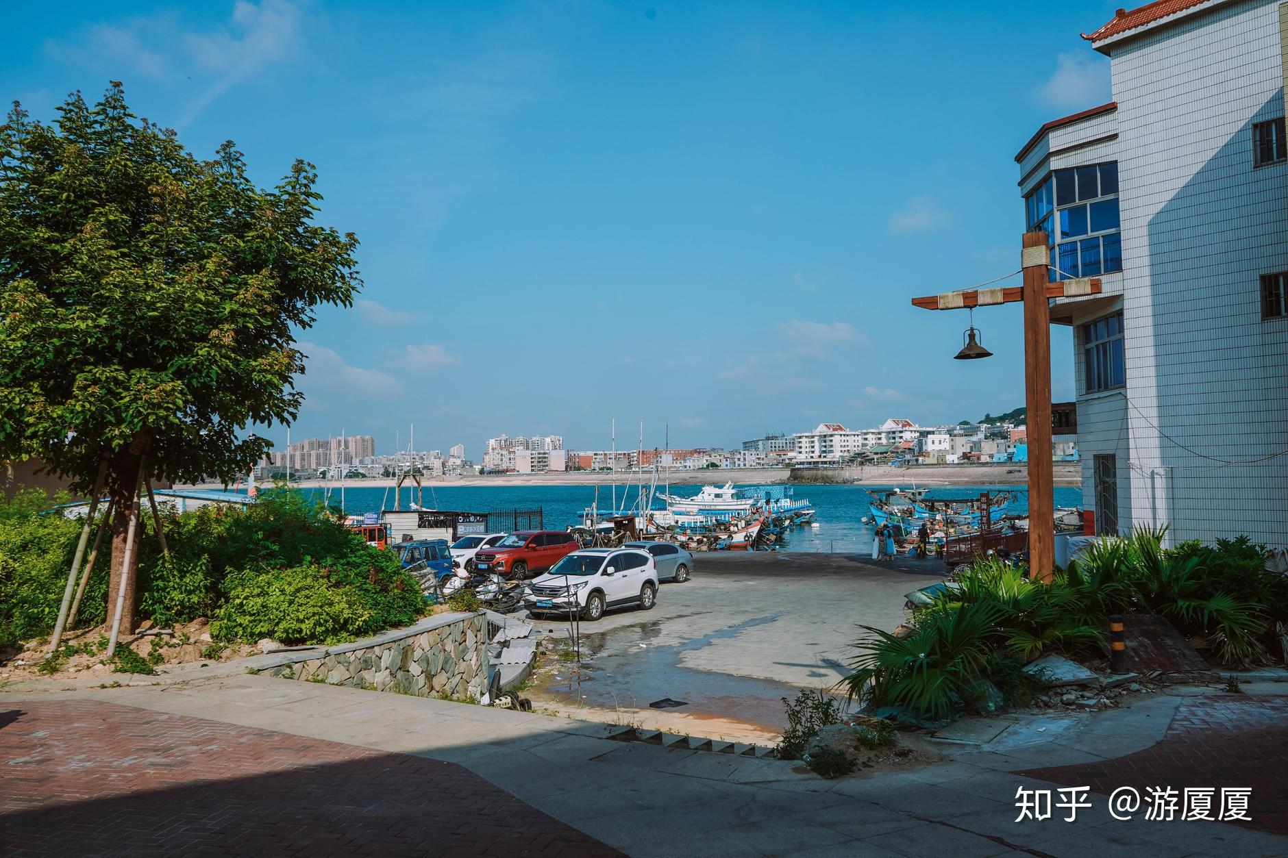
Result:
M1024 204L1025 227L1051 237L1056 280L1123 269L1115 162L1055 170Z

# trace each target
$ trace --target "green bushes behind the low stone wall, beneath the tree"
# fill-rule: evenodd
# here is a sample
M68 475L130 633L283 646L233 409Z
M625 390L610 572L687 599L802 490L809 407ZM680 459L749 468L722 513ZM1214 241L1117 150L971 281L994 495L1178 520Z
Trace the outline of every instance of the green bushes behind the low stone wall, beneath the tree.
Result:
M81 522L49 508L43 492L0 501L0 645L48 634L58 617ZM223 640L335 643L424 611L393 551L370 548L300 492L267 490L246 509L161 510L169 557L146 504L138 541L139 615L158 626L213 617ZM100 555L77 625L106 620L108 567Z

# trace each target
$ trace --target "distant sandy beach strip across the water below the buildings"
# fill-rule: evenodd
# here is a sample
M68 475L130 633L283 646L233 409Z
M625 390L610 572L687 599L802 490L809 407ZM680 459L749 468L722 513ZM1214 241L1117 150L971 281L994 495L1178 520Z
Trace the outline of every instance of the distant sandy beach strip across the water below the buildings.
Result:
M1056 462L1055 484L1078 486L1081 484L1081 466L1078 462ZM652 479L652 473L644 474L644 481ZM850 468L828 469L796 469L788 468L711 468L703 470L672 470L668 475L658 475L658 482L668 479L672 486L701 486L706 483L737 483L737 484L770 484L770 483L845 483L857 486L1024 486L1028 483L1028 469L1024 462L990 462L971 465L913 465L909 468L893 468L890 465L863 465ZM547 474L487 474L470 477L425 477L425 486L607 486L613 482L608 472L574 470L565 473ZM639 481L636 473L618 473L617 482L632 483ZM296 486L325 487L336 486L321 479L304 479L294 483ZM392 488L393 479L370 478L349 479L346 486L366 486L371 488ZM408 478L403 486L413 486ZM222 488L219 483L202 483L197 488Z

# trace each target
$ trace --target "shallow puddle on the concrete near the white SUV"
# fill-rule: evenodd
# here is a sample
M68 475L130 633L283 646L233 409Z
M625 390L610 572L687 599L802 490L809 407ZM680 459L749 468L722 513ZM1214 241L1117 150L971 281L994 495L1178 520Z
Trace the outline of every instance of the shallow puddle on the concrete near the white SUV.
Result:
M693 670L679 663L685 652L773 622L781 613L739 622L680 644L652 643L662 634L663 621L582 633L581 666L559 663L538 688L562 703L607 710L647 709L650 702L670 697L688 702L688 706L671 710L677 715L728 719L782 732L786 725L782 698L796 697L800 688L752 676ZM674 631L675 618L665 622L672 624Z

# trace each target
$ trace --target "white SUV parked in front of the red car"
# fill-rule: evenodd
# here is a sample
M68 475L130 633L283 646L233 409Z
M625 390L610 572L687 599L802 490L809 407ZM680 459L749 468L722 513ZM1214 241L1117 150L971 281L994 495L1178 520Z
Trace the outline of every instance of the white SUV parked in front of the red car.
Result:
M582 549L528 585L523 604L535 617L577 611L599 620L608 608L657 604L657 566L639 549Z

